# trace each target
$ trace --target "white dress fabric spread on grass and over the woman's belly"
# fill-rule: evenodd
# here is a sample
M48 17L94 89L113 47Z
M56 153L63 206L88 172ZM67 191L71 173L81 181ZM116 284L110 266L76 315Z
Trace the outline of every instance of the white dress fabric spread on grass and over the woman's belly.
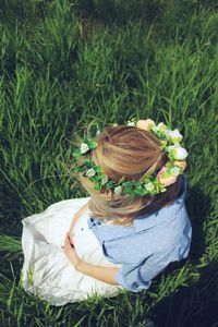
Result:
M94 294L114 296L123 289L122 286L109 284L75 270L61 247L74 214L89 198L64 199L22 220L24 264L21 280L26 292L52 305L64 305L87 300ZM98 240L88 228L88 214L89 209L78 218L73 229L76 254L89 264L121 267L104 255Z

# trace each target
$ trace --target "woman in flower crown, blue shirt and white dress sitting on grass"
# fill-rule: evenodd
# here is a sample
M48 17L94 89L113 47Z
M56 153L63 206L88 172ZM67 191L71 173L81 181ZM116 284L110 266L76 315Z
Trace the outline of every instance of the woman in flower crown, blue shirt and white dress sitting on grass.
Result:
M187 257L182 135L150 119L106 126L73 153L90 196L24 218L22 282L53 305L148 289Z

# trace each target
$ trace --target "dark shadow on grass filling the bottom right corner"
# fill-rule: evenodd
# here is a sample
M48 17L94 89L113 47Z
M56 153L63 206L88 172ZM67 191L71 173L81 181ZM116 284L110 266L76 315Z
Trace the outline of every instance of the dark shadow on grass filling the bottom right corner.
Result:
M165 298L152 314L156 327L218 326L218 265L213 262L201 270L191 287Z

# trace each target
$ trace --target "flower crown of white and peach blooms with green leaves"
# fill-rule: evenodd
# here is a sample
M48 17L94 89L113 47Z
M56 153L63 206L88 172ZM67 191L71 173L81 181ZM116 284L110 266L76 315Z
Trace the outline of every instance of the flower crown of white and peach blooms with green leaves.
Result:
M113 126L116 125L118 124L114 123ZM128 121L126 125L148 131L160 140L160 149L167 153L169 160L157 174L147 174L141 181L129 181L125 180L125 177L122 177L118 182L114 182L104 172L102 168L95 165L90 158L87 158L82 165L75 167L73 171L83 172L83 177L88 178L95 184L94 190L107 187L117 195L128 193L134 197L165 192L167 190L166 186L174 183L178 175L182 173L186 167L184 159L187 156L187 152L180 145L183 136L178 129L172 131L162 122L156 125L152 119L138 121L132 119ZM98 130L96 136L98 136L99 133L100 131ZM96 141L86 137L80 148L73 152L73 156L75 158L82 156L88 157L96 147Z

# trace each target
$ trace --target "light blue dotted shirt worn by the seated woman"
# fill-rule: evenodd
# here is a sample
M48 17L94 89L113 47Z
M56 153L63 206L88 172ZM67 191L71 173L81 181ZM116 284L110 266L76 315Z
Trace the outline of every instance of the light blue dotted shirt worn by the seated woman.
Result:
M187 257L192 226L185 208L186 180L182 194L152 215L134 219L133 226L104 225L88 218L88 227L99 241L108 261L122 264L116 280L132 292L148 289L152 279L169 263Z

